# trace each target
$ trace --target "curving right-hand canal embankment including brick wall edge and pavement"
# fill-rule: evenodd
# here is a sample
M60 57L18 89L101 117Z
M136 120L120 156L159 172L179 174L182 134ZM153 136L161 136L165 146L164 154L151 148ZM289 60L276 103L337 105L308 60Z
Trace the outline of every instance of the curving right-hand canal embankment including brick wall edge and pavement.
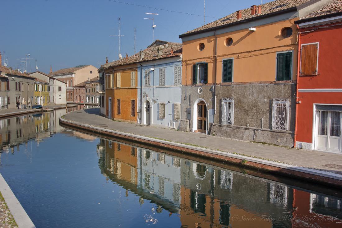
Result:
M118 122L102 117L98 112L98 108L70 112L60 118L60 123L88 132L173 149L263 172L342 187L342 155L340 154L282 148L200 133Z

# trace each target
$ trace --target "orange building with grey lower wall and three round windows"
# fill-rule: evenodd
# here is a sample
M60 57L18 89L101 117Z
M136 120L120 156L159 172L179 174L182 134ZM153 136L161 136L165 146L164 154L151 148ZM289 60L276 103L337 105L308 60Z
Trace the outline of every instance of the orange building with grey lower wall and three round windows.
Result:
M188 120L181 129L293 146L294 21L326 2L252 5L180 35L182 119Z

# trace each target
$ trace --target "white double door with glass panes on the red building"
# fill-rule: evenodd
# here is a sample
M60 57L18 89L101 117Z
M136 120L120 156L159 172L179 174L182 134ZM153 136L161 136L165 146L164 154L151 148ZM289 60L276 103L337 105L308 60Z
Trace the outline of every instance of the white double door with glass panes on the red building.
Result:
M317 112L316 149L341 152L341 112Z

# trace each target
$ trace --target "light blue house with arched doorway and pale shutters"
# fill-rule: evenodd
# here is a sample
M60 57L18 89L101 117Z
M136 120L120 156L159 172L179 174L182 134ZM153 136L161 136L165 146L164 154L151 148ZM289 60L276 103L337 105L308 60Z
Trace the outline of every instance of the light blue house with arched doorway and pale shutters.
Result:
M178 129L181 118L182 45L157 40L140 52L140 124ZM150 61L148 61L150 60ZM142 84L142 87L141 87Z

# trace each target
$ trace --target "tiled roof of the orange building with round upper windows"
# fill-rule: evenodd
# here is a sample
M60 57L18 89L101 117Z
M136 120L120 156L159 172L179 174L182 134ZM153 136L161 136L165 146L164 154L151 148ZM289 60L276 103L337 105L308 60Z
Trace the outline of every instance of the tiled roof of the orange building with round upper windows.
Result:
M187 31L186 33L179 35L179 37L181 38L183 36L191 35L194 33L199 33L201 31L212 30L214 28L228 26L230 24L237 23L237 22L249 21L249 19L254 20L262 15L291 10L294 7L298 7L299 5L308 1L310 0L276 0L272 2L267 2L265 4L260 5L261 14L258 14L257 16L251 15L251 7L249 7L249 8L241 10L241 20L237 19L237 16L236 16L237 14L236 12L234 12L225 17L220 18L219 20L213 21L201 27Z

